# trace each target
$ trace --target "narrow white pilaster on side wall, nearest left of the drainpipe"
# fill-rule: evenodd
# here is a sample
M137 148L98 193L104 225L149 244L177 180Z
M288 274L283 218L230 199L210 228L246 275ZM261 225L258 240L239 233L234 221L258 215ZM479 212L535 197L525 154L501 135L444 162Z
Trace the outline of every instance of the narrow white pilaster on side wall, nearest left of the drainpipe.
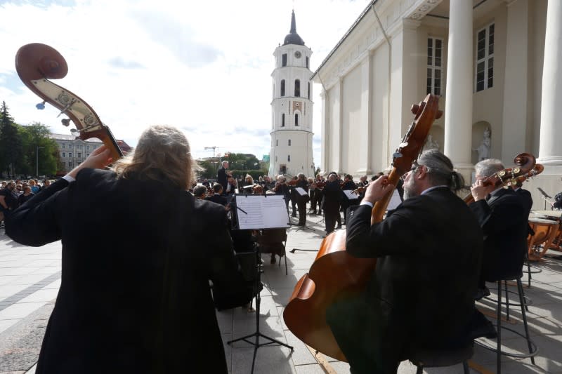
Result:
M361 121L359 131L359 168L358 175L372 174L372 142L371 142L371 112L372 112L372 52L367 53L361 62Z

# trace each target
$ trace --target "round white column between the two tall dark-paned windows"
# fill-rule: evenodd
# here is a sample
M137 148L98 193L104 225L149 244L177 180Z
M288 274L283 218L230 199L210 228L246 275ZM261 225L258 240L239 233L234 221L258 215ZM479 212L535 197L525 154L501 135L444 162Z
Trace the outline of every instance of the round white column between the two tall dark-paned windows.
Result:
M472 34L472 1L450 0L445 154L465 178L472 169Z

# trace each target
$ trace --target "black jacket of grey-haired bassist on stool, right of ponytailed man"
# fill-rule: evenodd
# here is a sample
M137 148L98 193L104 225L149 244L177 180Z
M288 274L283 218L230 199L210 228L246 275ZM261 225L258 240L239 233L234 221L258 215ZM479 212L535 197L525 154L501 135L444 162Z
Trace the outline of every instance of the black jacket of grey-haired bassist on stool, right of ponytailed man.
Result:
M485 281L521 276L529 212L511 188L499 189L488 200L470 204L484 232L482 276Z

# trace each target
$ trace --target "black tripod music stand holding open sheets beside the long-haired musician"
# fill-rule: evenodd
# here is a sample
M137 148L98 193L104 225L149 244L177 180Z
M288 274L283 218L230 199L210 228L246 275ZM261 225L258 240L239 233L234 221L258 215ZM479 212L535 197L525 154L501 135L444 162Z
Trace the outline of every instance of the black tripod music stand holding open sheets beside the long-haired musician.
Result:
M236 195L233 201L235 209L231 212L233 213L233 229L287 229L289 227L289 211L287 211L287 206L285 205L285 196L282 195ZM240 213L239 213L240 211ZM279 213L285 211L287 213L287 219L283 222L282 218L279 218ZM266 214L267 213L267 214ZM282 216L281 216L282 217ZM255 290L256 290L256 332L242 338L237 338L234 340L229 340L226 342L228 345L232 345L233 342L238 342L243 340L254 346L254 358L251 361L251 373L254 373L254 366L256 363L256 355L258 353L258 348L264 345L270 345L277 343L283 347L291 349L294 348L290 345L275 340L263 335L259 330L259 317L260 317L260 305L261 305L261 273L263 273L263 265L261 265L261 257L259 251L255 248L256 253L256 274L255 274ZM287 255L287 253L285 253ZM264 338L269 340L265 343L260 343L259 338ZM254 338L254 341L249 340L249 338Z

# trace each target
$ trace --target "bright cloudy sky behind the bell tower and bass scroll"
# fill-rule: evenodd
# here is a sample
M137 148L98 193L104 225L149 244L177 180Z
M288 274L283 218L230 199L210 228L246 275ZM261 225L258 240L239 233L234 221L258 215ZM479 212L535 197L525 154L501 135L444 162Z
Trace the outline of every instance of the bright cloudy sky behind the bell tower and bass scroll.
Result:
M0 0L0 102L16 122L69 134L50 105L15 72L20 46L43 43L67 60L54 83L96 110L116 138L136 145L151 124L183 129L195 157L269 153L273 52L296 31L311 70L368 0ZM321 87L313 86L315 164L320 163Z

